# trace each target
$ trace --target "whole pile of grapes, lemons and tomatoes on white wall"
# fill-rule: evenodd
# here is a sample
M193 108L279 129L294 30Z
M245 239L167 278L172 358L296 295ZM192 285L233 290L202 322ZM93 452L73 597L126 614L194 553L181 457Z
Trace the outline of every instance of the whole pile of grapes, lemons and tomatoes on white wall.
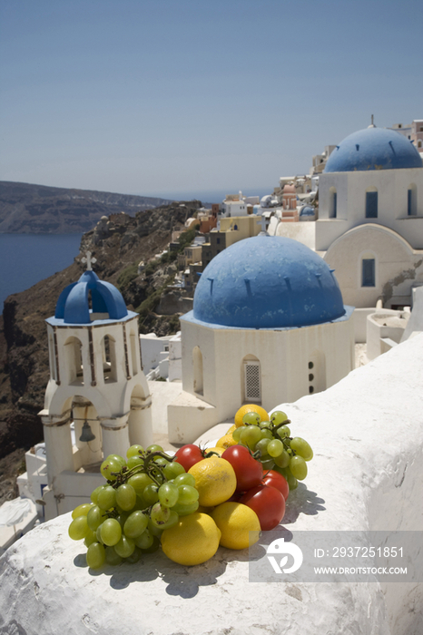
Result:
M312 453L299 437L290 438L286 415L281 421L283 413L274 413L269 421L257 409L242 406L215 448L184 445L171 456L159 445L133 445L126 459L108 456L101 466L107 483L95 488L92 503L74 509L69 526L72 539L84 540L88 566L138 562L160 544L173 562L200 564L219 544L244 549L259 540L261 530L277 526L289 482L297 483L294 472L305 477L291 462L310 460ZM282 427L288 434L280 434ZM282 445L278 454L275 441ZM283 453L289 462L281 466Z

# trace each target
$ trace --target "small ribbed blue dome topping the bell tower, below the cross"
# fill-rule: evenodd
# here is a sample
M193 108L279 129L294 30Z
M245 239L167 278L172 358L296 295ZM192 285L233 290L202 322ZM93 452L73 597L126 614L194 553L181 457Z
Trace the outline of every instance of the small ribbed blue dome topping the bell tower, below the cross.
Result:
M90 291L92 310L90 310ZM93 314L108 314L107 319L128 315L122 294L110 282L103 282L93 271L84 271L77 282L68 285L57 300L54 318L66 324L90 324ZM103 316L102 316L103 318Z

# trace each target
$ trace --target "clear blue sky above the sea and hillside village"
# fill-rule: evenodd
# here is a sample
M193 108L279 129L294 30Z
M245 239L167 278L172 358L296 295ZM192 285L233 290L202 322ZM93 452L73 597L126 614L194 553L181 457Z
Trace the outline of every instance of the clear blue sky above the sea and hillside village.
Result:
M421 0L2 0L0 179L271 190L423 118Z

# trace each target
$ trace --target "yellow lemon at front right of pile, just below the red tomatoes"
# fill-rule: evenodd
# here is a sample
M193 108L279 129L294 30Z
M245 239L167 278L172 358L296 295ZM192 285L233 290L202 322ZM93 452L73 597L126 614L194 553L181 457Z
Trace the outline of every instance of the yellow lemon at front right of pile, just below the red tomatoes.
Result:
M221 530L221 546L246 549L259 540L260 521L257 513L242 503L221 503L212 512Z

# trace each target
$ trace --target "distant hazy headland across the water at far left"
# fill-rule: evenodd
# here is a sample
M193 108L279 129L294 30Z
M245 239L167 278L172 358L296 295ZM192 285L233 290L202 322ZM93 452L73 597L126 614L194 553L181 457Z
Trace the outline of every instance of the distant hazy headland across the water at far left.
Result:
M170 203L147 196L0 181L0 233L72 234L93 228L102 216Z

